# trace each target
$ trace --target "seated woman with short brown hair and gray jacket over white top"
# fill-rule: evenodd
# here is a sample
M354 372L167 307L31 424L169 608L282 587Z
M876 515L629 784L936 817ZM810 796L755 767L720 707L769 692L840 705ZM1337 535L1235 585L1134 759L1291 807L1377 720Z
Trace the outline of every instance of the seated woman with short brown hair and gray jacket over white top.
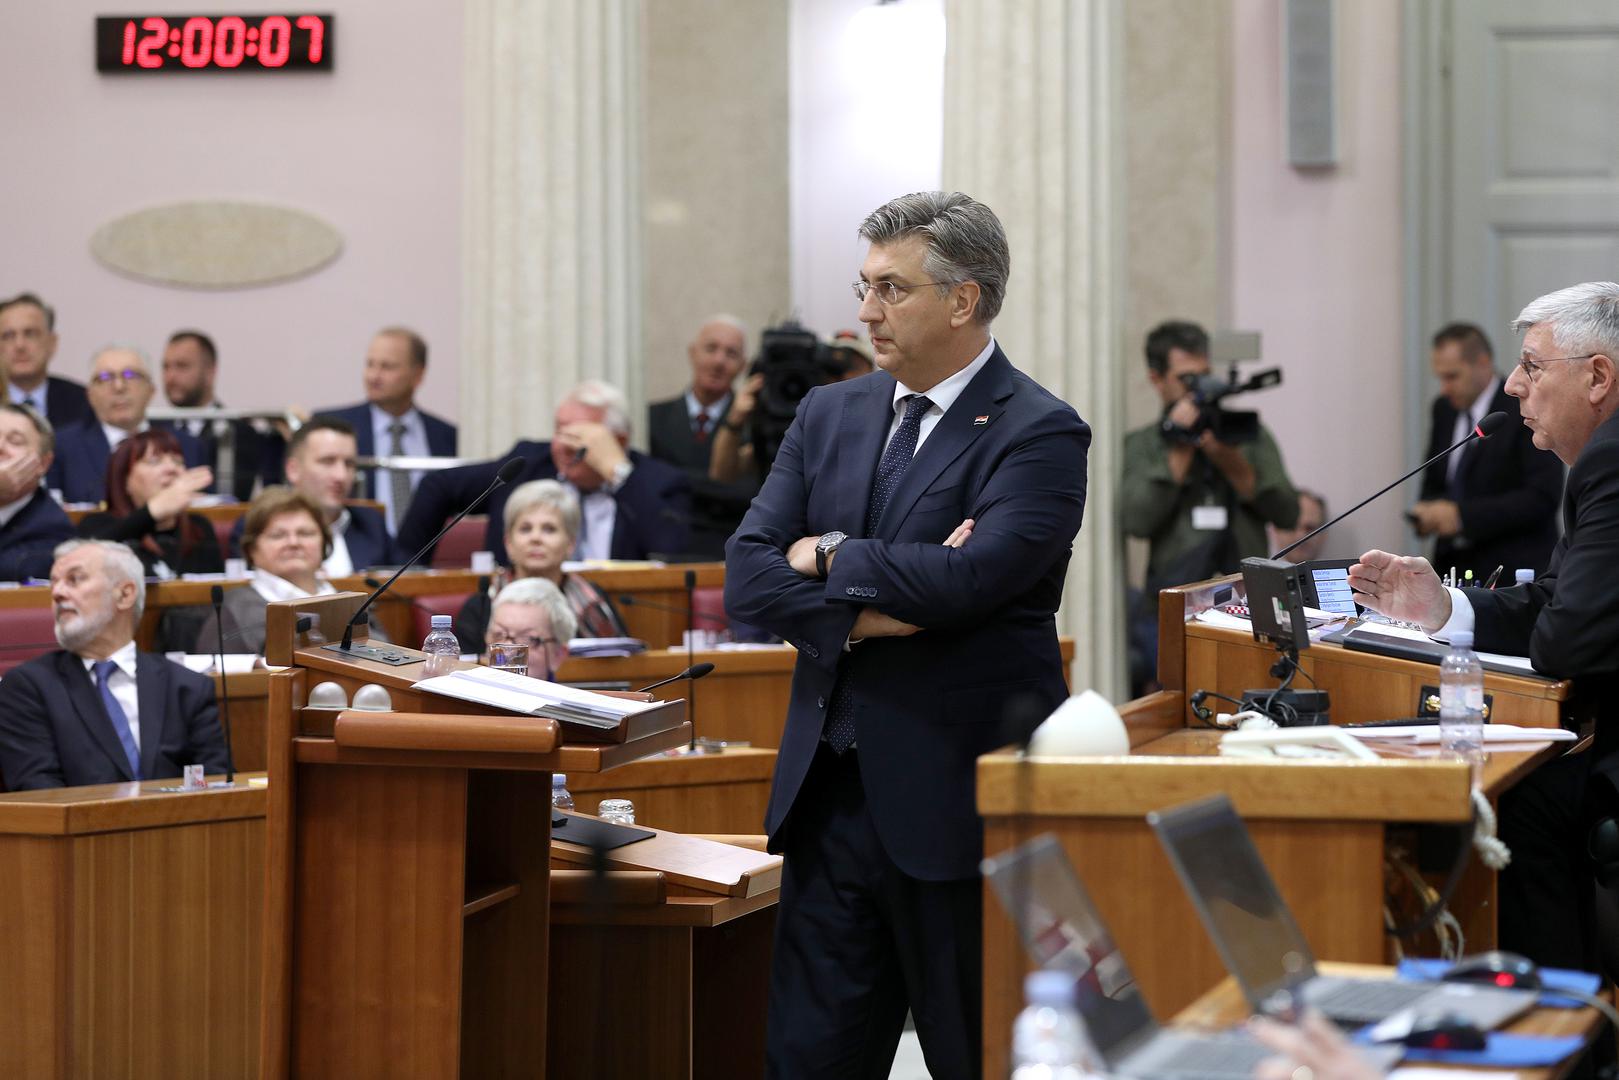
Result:
M219 649L223 628L227 653L264 653L266 609L270 601L327 596L337 589L319 576L332 551L325 515L309 495L293 487L266 487L248 507L241 526L241 554L253 570L246 588L228 589L220 620L209 612L196 636L194 653ZM371 623L371 638L382 638Z

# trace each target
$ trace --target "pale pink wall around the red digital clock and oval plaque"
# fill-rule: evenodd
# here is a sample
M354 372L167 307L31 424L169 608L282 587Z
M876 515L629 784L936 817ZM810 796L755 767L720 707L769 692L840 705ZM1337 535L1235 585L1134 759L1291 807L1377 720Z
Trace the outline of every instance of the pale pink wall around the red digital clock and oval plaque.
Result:
M155 356L170 330L196 325L219 343L227 403L342 405L361 398L371 332L403 322L431 348L423 403L453 416L460 5L317 5L337 16L330 74L97 74L94 18L134 10L154 8L52 0L6 24L0 295L32 290L55 304L53 369L83 379L104 342ZM134 282L91 257L104 222L194 198L300 207L342 233L343 253L311 277L228 291Z

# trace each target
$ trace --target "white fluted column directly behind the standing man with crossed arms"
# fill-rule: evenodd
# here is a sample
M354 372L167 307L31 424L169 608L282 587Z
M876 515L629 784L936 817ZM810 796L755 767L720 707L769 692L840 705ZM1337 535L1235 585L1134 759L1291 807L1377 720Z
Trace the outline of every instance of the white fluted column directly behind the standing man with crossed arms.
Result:
M1012 279L996 338L1091 424L1085 525L1057 627L1075 638L1073 687L1122 701L1117 3L947 0L944 186L1007 228Z

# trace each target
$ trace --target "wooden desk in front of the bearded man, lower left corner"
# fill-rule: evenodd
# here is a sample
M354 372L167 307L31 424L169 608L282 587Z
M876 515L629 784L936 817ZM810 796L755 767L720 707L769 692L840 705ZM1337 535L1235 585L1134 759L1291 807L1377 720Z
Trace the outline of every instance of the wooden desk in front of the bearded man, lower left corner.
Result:
M256 1077L266 792L0 795L0 1075Z

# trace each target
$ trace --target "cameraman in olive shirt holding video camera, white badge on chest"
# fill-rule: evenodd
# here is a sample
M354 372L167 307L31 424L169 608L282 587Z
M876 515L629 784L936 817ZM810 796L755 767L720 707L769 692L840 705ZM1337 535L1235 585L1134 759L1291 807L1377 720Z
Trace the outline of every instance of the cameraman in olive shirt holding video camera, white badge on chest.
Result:
M1151 542L1148 607L1158 591L1237 570L1264 555L1264 526L1292 528L1298 494L1282 455L1255 413L1222 398L1281 382L1276 369L1239 384L1209 372L1209 335L1195 322L1164 322L1146 335L1146 377L1162 419L1125 436L1119 518Z

